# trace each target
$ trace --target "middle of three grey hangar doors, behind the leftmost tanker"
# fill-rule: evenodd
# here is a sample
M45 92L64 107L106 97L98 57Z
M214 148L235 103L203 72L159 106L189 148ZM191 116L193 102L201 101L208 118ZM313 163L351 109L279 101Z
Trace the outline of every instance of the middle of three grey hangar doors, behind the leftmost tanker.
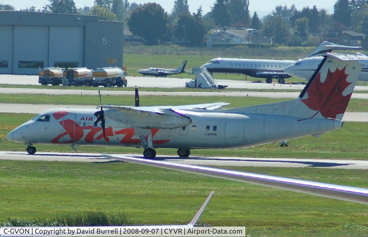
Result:
M48 67L48 26L14 26L15 74L38 74L38 68Z

